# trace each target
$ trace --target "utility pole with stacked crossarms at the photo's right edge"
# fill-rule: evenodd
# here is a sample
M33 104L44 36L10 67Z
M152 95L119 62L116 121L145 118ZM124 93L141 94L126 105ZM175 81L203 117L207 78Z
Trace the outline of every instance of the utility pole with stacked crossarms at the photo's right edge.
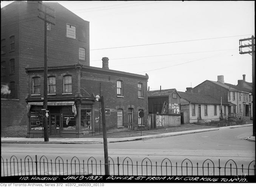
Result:
M251 38L245 38L245 39L241 39L239 40L239 53L240 54L249 54L252 56L252 69L253 69L253 136L255 136L255 105L256 105L256 99L255 99L255 43L254 43L254 36L252 35ZM248 44L243 44L244 41L249 41L250 43ZM249 48L249 49L248 49ZM247 51L242 51L243 49L247 49ZM250 50L251 49L251 50Z

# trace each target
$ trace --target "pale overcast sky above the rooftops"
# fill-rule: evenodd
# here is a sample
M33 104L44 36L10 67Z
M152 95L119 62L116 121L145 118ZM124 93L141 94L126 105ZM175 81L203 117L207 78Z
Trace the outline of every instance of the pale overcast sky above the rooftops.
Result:
M185 91L218 75L252 82L252 56L239 54L239 39L255 36L254 1L52 2L90 22L91 66L108 57L111 70L147 73L150 90Z

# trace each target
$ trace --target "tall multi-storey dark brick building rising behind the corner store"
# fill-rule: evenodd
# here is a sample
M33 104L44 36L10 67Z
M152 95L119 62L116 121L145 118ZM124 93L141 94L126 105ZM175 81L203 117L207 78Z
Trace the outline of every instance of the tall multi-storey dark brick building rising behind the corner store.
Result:
M89 22L59 3L56 25L48 25L48 66L89 66ZM44 65L44 21L37 1L15 1L1 8L1 124L26 125L27 74L25 67Z

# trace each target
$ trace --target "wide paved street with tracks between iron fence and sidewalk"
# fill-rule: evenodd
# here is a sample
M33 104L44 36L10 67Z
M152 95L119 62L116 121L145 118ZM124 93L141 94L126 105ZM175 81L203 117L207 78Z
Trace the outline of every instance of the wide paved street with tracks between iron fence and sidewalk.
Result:
M232 159L237 167L255 160L255 142L244 140L251 135L253 127L242 127L233 129L221 129L218 131L201 132L196 134L179 135L174 137L154 138L150 140L128 141L108 144L108 155L117 162L122 163L126 157L131 158L133 164L138 161L139 165L160 164L163 159L168 158L172 164L176 162L180 166L186 158L191 160L193 166L210 159L217 166L220 159L221 165ZM9 158L15 155L25 158L30 155L38 158L45 155L49 160L55 160L60 156L63 160L71 160L76 156L82 162L89 157L94 157L104 162L103 144L2 144L2 157ZM145 159L144 158L149 158ZM125 159L125 162L129 160ZM142 162L143 161L143 162ZM185 163L190 164L190 161ZM230 161L234 166L234 163ZM130 160L129 160L130 163ZM157 165L158 165L157 164ZM229 165L230 163L228 163Z

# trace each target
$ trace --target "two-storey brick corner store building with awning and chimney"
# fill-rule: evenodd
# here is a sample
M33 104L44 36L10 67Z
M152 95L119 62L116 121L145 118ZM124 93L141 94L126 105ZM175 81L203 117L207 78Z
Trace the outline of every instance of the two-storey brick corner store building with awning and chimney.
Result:
M78 138L102 132L96 95L104 97L108 131L148 128L147 74L109 70L108 58L102 60L103 68L80 63L48 68L49 136ZM26 68L26 73L28 137L43 137L43 67Z

